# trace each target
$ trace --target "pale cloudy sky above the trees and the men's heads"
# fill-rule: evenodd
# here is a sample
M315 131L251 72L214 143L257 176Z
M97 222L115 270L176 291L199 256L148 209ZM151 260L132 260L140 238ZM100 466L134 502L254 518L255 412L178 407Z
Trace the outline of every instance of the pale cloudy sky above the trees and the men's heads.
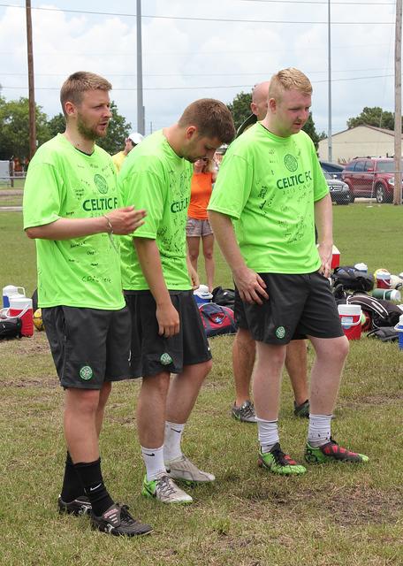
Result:
M0 84L7 100L27 96L23 5L0 4ZM35 98L49 118L60 111L65 77L86 70L110 80L111 98L136 130L135 0L33 0L32 6ZM232 102L287 66L312 81L316 129L327 132L327 0L142 0L141 10L147 134L151 123L156 130L175 122L197 98ZM331 21L336 133L364 106L394 109L395 4L332 1Z

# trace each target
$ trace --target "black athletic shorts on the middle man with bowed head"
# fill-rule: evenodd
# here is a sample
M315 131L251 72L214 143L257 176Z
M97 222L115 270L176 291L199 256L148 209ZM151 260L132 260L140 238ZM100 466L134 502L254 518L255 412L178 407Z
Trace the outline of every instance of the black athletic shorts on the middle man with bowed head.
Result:
M179 312L179 333L171 338L158 334L156 302L150 291L124 291L124 294L132 314L134 377L148 377L162 371L181 373L185 365L211 359L193 291L170 291L171 302Z

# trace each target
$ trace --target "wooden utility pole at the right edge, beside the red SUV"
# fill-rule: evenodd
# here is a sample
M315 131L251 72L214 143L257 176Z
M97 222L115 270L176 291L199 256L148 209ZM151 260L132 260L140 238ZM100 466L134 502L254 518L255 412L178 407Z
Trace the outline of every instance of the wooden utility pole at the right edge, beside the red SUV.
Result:
M396 0L395 27L395 184L393 204L401 204L401 3Z

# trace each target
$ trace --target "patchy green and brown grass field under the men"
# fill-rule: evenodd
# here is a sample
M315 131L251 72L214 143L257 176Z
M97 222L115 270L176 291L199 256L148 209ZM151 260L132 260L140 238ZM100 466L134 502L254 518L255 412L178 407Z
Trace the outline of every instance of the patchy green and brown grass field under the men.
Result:
M334 207L342 264L403 271L401 207ZM21 215L0 215L0 286L35 287L34 242ZM232 287L217 252L217 284ZM57 276L57 274L55 274ZM201 276L201 280L203 277ZM103 472L114 497L153 524L145 539L91 532L85 517L60 517L65 447L57 386L44 333L0 343L0 563L7 566L226 565L399 566L403 564L403 353L366 337L351 343L333 434L368 454L366 466L308 466L278 478L256 465L255 425L229 417L232 337L211 340L214 365L186 427L186 454L216 474L192 490L194 504L163 507L141 498L143 475L133 418L139 383L115 386L105 418ZM312 362L309 350L309 363ZM284 379L280 434L301 459L307 422L293 417Z

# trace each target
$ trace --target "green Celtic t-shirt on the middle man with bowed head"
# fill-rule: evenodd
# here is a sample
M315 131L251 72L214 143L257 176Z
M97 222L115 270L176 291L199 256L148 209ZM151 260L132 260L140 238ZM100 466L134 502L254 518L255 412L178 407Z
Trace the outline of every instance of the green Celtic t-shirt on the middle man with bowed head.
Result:
M143 226L121 238L122 282L127 291L148 289L133 237L156 241L163 278L170 290L186 291L186 219L192 164L178 157L162 130L149 135L126 157L118 176L125 206L147 210Z

